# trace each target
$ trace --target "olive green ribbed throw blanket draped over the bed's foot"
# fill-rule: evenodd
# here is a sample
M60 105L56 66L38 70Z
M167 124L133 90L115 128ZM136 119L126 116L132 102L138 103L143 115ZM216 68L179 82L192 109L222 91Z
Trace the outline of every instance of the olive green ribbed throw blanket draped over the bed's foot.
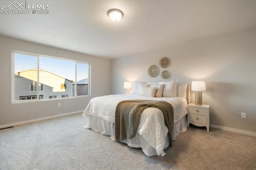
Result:
M153 100L125 100L118 103L115 115L116 141L131 139L135 136L140 123L140 115L148 107L155 107L163 112L165 125L169 130L169 143L170 146L173 145L173 107L166 101Z

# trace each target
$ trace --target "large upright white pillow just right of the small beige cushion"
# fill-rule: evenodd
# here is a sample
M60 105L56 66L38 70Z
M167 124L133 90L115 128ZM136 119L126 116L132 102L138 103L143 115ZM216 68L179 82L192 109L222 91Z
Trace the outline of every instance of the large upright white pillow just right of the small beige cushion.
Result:
M178 80L162 81L159 84L165 84L162 97L177 97Z

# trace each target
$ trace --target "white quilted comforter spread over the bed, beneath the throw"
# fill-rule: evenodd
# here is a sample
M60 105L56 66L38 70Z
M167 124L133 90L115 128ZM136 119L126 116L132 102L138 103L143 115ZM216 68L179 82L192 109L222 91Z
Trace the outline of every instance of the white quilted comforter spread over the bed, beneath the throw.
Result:
M84 110L83 116L98 117L110 123L115 121L116 105L123 100L157 100L172 104L174 109L174 123L187 114L187 101L182 97L144 97L139 95L108 95L93 98ZM88 128L88 127L87 127ZM156 149L158 156L164 156L165 137L168 128L164 124L162 111L156 108L147 108L142 112L137 132Z

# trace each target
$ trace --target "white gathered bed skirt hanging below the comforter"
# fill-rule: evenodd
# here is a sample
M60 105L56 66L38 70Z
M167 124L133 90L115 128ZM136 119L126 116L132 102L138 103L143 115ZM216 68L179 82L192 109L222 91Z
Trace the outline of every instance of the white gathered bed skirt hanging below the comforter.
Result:
M84 128L92 129L94 132L111 136L111 140L115 140L115 129L113 127L113 123L107 122L103 119L94 116L86 116L86 125ZM187 130L187 119L186 115L180 119L180 121L174 123L173 133L172 133L172 140L176 139L176 136L179 135L179 132L185 132ZM165 137L166 144L164 149L169 146L168 134ZM128 146L132 148L142 148L142 151L147 156L154 156L157 155L156 149L150 146L148 142L141 136L138 132L136 133L135 137L132 139L125 139L120 142L126 143ZM174 143L175 145L175 143Z

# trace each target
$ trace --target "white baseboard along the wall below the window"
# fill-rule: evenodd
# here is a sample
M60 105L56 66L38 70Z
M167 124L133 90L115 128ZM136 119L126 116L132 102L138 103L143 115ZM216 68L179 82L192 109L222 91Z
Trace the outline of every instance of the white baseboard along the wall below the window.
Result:
M37 122L37 121L43 121L43 120L46 120L46 119L52 119L52 118L56 118L56 117L73 115L73 114L76 114L76 113L82 113L83 111L84 110L82 110L82 111L74 111L74 112L69 112L69 113L63 113L63 114L60 114L60 115L53 115L53 116L42 117L42 118L38 118L38 119L31 119L31 120L28 120L28 121L9 123L9 124L5 124L5 125L0 125L0 129L1 128L7 128L7 127L13 127L13 126L16 126L16 125L22 125L22 124L25 124L25 123L32 123L32 122Z

